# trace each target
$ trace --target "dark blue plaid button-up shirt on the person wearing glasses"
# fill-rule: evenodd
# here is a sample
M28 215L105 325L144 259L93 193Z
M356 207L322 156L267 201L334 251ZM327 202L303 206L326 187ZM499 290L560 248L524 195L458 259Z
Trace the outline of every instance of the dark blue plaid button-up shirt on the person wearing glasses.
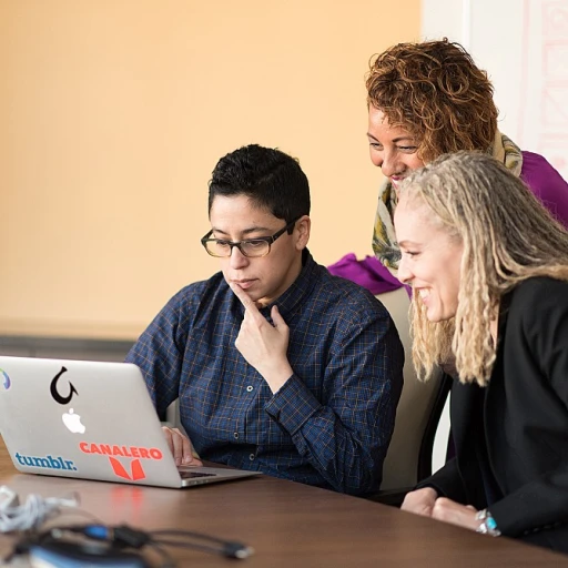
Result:
M235 347L244 308L222 273L173 296L126 361L141 367L159 413L180 399L203 459L348 494L377 490L403 385L393 321L307 251L275 303L294 369L275 394Z

